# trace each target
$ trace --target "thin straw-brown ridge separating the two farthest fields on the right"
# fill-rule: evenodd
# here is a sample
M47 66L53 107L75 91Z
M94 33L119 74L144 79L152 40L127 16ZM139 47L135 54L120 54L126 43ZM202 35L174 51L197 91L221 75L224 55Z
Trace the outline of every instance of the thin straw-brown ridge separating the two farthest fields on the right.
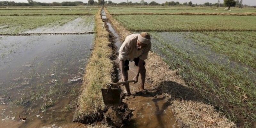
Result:
M114 16L119 15L223 15L223 16L255 16L256 13L204 13L204 12L178 12L178 13L117 13L111 14Z

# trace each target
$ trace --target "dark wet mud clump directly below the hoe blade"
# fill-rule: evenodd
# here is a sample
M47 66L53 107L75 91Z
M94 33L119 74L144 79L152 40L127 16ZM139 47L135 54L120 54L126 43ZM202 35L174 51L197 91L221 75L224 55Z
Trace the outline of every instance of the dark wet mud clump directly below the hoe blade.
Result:
M132 110L122 105L117 108L109 108L106 113L106 121L108 125L117 128L128 126L131 122Z

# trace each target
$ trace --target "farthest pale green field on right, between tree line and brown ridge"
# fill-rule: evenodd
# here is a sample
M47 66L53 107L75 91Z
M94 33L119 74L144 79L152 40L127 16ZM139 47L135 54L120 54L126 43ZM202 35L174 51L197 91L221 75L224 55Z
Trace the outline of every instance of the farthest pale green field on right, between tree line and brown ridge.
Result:
M225 7L172 7L172 8L108 8L110 14L131 14L131 13L256 13L253 8L231 8L231 11L224 10Z

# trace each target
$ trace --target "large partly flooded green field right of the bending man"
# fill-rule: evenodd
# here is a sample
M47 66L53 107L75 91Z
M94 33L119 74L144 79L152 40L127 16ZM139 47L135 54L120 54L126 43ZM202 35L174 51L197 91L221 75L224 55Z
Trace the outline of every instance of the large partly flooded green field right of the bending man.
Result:
M229 119L248 126L256 120L254 33L150 32L152 51Z

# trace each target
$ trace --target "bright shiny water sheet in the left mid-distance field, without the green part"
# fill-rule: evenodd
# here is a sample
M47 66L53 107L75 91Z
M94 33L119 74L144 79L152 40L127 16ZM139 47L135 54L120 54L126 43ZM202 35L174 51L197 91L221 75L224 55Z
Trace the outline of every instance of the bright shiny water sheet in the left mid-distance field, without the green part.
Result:
M84 33L92 32L93 28L93 16L83 16L61 26L40 27L23 33Z

